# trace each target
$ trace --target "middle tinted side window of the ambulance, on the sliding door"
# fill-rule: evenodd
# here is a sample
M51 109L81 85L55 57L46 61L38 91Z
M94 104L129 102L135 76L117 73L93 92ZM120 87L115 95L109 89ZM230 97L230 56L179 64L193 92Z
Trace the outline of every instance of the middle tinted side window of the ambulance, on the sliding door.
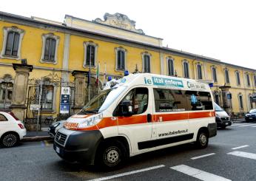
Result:
M155 112L186 111L186 96L181 90L154 89Z

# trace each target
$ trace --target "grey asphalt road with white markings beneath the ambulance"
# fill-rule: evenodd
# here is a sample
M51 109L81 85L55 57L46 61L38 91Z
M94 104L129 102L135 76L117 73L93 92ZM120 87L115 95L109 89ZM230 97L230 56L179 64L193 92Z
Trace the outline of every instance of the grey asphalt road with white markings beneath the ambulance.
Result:
M203 156L203 157L201 157ZM256 123L219 129L205 149L193 144L132 157L116 171L66 163L53 143L0 148L0 180L256 180Z

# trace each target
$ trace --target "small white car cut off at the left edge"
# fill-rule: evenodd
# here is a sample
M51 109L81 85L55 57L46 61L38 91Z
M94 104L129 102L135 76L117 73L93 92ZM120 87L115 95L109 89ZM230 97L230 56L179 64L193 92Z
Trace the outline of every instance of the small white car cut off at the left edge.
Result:
M12 113L0 112L0 145L16 146L27 134L24 124Z

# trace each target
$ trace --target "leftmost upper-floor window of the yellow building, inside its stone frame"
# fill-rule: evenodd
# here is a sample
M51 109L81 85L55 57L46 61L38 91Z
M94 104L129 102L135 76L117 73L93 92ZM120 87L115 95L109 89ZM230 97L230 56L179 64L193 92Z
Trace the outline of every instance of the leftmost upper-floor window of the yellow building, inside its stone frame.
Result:
M7 42L5 48L5 55L17 56L18 55L18 42L19 33L10 31L7 35Z

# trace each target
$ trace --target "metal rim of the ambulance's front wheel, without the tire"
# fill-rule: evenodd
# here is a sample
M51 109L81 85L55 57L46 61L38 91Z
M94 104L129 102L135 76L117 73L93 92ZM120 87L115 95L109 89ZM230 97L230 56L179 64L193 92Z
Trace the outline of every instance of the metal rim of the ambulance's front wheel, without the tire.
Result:
M104 163L108 166L118 165L120 156L118 148L110 147L104 153Z

